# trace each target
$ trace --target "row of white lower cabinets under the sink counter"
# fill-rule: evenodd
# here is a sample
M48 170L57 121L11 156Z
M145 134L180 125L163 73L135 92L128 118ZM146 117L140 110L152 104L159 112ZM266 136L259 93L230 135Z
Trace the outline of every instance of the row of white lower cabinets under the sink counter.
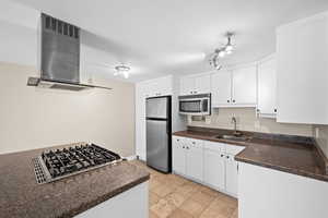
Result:
M238 164L244 147L173 136L173 171L237 197Z

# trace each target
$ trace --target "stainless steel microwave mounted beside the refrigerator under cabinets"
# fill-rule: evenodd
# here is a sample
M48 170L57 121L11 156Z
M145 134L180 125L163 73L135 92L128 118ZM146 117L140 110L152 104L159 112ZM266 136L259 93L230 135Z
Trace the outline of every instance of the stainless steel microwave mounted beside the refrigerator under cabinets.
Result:
M211 94L179 96L179 113L191 116L211 114Z

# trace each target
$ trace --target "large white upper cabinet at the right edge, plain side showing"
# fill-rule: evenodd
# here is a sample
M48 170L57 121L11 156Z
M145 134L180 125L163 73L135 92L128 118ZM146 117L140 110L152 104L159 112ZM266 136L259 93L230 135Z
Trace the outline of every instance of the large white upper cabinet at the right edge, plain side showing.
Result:
M327 57L327 12L278 28L278 122L328 124Z

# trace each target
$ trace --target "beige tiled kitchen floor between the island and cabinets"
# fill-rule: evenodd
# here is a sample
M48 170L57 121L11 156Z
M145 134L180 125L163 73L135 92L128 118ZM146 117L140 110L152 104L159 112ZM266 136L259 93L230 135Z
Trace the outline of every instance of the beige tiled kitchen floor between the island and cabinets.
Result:
M237 218L237 199L175 174L163 174L139 160L150 179L150 218Z

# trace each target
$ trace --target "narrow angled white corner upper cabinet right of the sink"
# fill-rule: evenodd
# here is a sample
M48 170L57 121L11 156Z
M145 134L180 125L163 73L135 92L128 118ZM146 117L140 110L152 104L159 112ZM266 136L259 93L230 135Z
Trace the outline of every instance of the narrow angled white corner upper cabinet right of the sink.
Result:
M276 59L270 57L258 64L258 106L260 117L273 118L277 112Z

